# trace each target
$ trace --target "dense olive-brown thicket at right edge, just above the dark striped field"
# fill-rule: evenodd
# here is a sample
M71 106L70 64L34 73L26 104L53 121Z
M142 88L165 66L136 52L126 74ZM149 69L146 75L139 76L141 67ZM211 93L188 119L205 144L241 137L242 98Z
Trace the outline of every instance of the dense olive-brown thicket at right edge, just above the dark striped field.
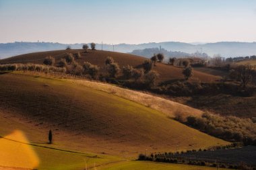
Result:
M224 140L256 145L256 124L249 118L204 113L187 117L185 124Z

